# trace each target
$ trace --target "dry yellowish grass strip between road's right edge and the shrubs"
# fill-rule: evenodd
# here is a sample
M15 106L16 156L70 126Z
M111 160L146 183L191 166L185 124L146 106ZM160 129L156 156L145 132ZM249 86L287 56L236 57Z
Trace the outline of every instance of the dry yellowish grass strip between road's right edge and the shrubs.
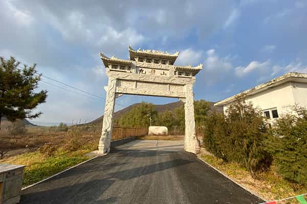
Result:
M268 172L262 173L257 180L253 179L246 168L236 163L225 163L213 156L202 155L201 158L216 169L228 175L233 181L255 192L266 200L277 200L307 192L307 188L284 180L276 173L273 165ZM278 203L299 203L295 198Z

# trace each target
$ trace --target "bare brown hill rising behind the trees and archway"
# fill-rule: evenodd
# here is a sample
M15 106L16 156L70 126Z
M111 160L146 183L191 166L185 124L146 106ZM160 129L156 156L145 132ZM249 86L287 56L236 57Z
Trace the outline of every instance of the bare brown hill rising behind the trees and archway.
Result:
M218 112L222 112L222 108L221 107L214 107L214 103L211 101L208 101L210 104L210 112L212 111L218 111ZM118 119L120 118L123 114L127 113L128 111L130 111L131 109L133 109L135 106L139 106L140 103L137 104L133 104L131 106L128 106L122 110L119 110L117 112L114 113L114 119ZM156 110L158 113L162 113L164 111L172 111L176 108L179 108L181 106L183 106L183 102L182 101L177 101L177 102L173 102L173 103L169 103L169 104L163 104L163 105L154 105L156 107ZM100 116L99 118L93 120L92 122L90 122L89 124L98 124L98 123L102 123L103 120L103 115Z

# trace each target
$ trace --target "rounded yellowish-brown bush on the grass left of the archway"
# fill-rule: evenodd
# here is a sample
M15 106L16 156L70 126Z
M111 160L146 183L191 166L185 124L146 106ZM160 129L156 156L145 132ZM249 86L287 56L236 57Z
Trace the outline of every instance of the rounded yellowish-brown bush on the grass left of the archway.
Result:
M81 149L83 145L82 131L79 127L74 126L69 129L65 135L64 149L69 151L76 151Z

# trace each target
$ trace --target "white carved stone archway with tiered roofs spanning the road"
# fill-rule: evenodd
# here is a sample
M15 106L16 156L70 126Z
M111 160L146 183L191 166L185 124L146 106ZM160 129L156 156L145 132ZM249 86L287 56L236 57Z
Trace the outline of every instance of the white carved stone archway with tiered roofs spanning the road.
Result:
M107 58L100 53L106 68L108 86L104 108L102 134L98 153L107 154L111 145L112 119L117 97L123 94L164 96L179 98L185 109L186 151L196 153L199 142L195 134L193 84L195 75L202 69L196 67L173 65L179 52L168 54L157 50L134 50L130 46L130 60Z

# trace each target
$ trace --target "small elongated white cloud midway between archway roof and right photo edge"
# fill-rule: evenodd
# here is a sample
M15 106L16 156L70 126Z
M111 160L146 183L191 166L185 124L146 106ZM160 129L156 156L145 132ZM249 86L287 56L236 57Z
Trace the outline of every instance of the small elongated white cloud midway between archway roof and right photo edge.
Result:
M244 66L238 66L235 68L235 74L237 77L244 77L246 74L258 70L258 71L264 71L268 69L270 66L270 61L267 60L265 62L258 62L258 61L252 61L249 63L246 67Z

